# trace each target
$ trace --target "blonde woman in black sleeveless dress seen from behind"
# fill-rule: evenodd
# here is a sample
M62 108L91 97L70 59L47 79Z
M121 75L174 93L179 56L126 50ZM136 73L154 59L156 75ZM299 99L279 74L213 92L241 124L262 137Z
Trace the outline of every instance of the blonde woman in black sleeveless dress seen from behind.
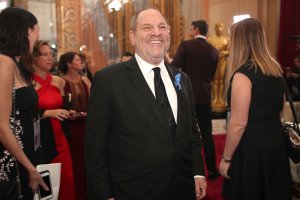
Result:
M269 53L258 20L238 22L230 34L231 116L220 163L223 194L233 200L290 200L291 173L280 121L282 69Z

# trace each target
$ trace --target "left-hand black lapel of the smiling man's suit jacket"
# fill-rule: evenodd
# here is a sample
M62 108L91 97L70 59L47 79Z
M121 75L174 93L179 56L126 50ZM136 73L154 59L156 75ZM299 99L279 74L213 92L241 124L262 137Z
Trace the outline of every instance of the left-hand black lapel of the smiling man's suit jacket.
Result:
M131 59L131 61L128 62L126 67L128 68L128 74L134 87L137 89L139 94L143 97L144 102L146 102L145 104L147 104L150 108L148 114L150 114L150 112L153 112L159 124L165 129L164 132L169 133L169 135L171 136L171 133L167 125L163 123L164 120L162 118L161 111L159 110L156 104L155 97L151 89L149 88L138 66L138 63L136 62L136 59L135 58Z

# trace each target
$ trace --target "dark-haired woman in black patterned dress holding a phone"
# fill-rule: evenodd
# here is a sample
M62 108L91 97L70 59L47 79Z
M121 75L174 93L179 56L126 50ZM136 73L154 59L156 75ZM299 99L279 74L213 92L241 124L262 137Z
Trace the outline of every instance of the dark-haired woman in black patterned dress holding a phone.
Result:
M34 167L40 154L33 131L37 94L23 62L38 37L39 27L32 13L20 8L6 8L0 13L1 200L21 199L21 196L33 199L38 184L47 189Z

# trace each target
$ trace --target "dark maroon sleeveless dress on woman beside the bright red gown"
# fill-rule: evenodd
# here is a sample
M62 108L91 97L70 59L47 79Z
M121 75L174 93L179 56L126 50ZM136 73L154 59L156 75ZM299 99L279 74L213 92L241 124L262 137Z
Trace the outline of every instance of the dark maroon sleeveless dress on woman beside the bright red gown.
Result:
M65 79L66 80L66 79ZM77 112L86 112L88 103L88 87L80 81L74 83L66 80L65 95L71 94L72 109ZM71 132L70 149L74 166L76 197L78 200L87 200L87 185L84 165L84 141L85 141L86 117L78 117L69 121Z

